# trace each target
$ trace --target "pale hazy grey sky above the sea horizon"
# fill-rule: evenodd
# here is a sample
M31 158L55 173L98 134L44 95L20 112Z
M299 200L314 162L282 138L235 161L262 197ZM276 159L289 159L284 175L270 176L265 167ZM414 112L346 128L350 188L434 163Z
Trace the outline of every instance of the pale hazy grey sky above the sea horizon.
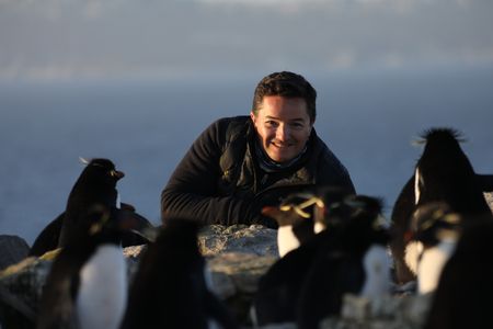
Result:
M0 0L0 81L493 65L491 0Z

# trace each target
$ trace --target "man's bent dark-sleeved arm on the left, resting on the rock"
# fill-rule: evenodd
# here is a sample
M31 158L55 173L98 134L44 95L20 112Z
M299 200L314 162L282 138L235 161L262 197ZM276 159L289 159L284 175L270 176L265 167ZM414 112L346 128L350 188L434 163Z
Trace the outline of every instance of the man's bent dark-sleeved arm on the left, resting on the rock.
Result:
M186 217L203 224L250 223L249 202L218 196L222 174L219 158L226 143L227 122L211 124L194 141L161 193L161 217Z

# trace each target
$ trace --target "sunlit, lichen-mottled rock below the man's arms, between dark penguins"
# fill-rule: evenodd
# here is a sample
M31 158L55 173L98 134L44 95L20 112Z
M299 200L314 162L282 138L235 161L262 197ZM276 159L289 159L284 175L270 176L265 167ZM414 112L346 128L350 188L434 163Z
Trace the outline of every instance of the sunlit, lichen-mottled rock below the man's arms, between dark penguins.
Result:
M199 232L198 246L210 269L213 291L240 322L250 325L259 279L278 259L277 231L261 225L210 225Z

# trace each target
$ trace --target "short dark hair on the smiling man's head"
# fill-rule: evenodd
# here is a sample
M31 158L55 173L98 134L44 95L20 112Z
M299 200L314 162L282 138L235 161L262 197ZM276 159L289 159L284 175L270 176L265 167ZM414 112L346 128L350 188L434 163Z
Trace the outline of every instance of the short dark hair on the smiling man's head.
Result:
M257 115L260 105L266 95L280 95L285 98L301 98L307 102L307 111L313 123L317 116L317 91L310 82L300 75L283 71L274 72L263 78L253 94L253 114Z

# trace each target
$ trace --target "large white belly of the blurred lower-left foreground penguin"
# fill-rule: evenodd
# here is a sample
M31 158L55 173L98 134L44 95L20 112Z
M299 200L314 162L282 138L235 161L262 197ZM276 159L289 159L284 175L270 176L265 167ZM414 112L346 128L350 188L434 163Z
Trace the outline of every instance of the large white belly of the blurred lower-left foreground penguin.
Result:
M118 328L127 300L127 269L122 248L100 246L80 272L76 300L80 328Z

